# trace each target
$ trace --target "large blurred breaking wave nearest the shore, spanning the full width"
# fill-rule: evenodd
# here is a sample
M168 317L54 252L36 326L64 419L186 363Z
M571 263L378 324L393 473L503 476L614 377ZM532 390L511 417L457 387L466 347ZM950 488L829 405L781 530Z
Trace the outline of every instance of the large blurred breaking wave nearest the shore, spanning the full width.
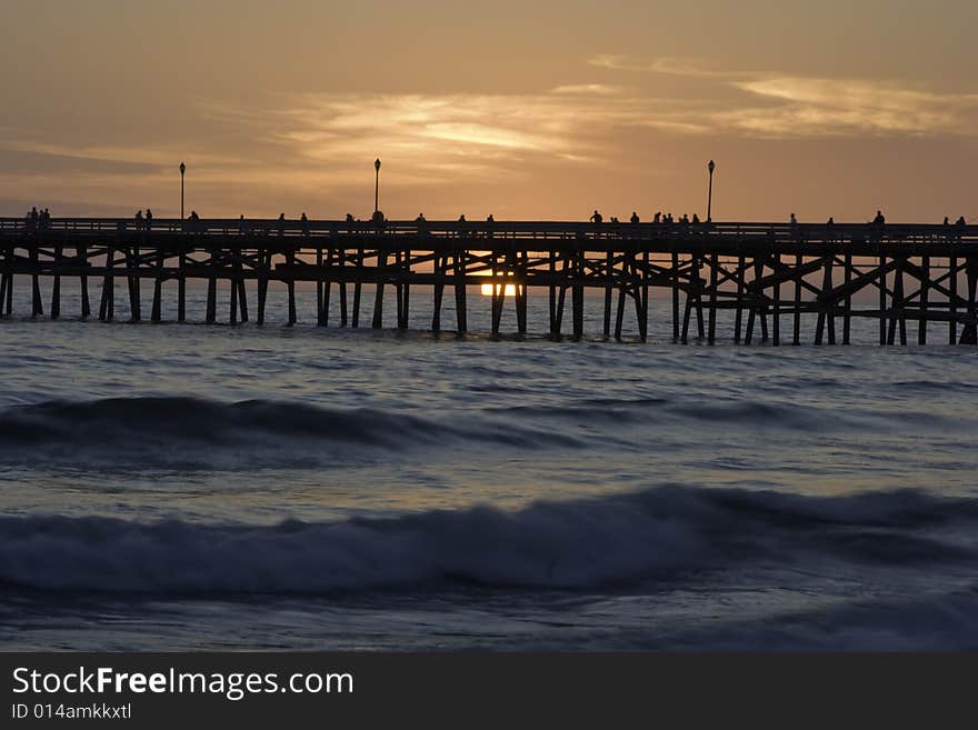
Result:
M978 501L663 487L273 527L0 518L0 581L40 590L329 593L446 584L630 590L738 566L972 564Z

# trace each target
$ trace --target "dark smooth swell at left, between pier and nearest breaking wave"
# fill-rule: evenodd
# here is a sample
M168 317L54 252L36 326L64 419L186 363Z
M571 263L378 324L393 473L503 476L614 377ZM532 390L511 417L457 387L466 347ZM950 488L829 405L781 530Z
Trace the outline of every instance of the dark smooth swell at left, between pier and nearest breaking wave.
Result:
M351 449L403 450L471 441L517 449L573 447L572 437L528 424L453 422L428 414L330 409L301 402L199 398L109 398L49 401L0 411L0 459L43 451L84 461L106 454L123 462L221 456L299 458L316 462ZM132 459L132 457L137 457ZM246 461L249 461L246 458Z

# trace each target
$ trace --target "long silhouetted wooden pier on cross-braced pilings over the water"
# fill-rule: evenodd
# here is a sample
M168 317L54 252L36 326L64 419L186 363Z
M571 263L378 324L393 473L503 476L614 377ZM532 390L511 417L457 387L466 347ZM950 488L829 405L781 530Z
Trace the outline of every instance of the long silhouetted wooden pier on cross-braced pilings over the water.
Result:
M184 321L187 280L198 279L208 287L207 322L218 320L219 281L230 283L232 324L249 319L249 282L258 323L269 282L286 286L290 324L296 283L315 282L317 323L363 327L367 284L370 324L382 326L392 293L398 328L407 329L412 287L423 286L433 292L431 330L443 328L448 289L456 321L447 329L465 333L467 288L493 284L493 334L508 304L518 333L528 331L533 290L549 297L549 334L581 338L590 288L603 294L606 338L620 338L633 318L645 339L649 291L660 288L671 297L677 342L716 342L718 312L732 310L732 340L747 344L849 344L856 317L879 321L880 344L978 343L978 226L156 220L147 228L131 219L0 219L0 317L13 314L14 282L23 280L14 277L30 280L30 314L52 319L66 314L61 280L74 278L77 314L111 321L116 280L124 278L132 321L143 319L144 280L149 319L160 321L167 296ZM802 328L802 314L815 316L814 327L809 317Z

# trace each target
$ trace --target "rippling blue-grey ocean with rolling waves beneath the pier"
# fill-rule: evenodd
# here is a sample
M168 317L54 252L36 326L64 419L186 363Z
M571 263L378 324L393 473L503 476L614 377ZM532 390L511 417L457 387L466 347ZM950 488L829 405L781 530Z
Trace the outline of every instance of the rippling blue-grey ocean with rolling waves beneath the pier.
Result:
M734 346L723 313L681 346L659 300L605 342L600 298L582 342L533 297L530 336L459 339L422 289L407 332L390 300L317 328L303 288L291 328L276 288L265 327L130 324L121 286L80 322L70 282L32 321L27 284L0 649L978 649L975 349Z

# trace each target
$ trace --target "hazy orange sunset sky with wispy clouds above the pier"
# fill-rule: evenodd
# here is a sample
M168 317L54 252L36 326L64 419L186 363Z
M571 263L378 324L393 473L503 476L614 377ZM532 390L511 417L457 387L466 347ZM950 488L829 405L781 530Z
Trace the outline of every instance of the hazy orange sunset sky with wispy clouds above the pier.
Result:
M974 0L0 0L0 216L978 219Z

